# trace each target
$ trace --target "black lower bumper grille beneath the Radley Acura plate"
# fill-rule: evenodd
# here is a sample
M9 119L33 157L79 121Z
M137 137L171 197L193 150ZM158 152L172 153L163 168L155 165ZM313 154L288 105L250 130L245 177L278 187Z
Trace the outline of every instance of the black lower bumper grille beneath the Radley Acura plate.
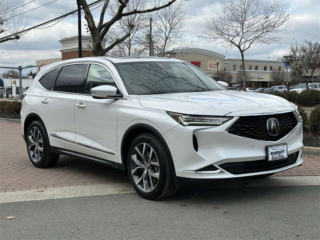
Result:
M268 162L266 159L248 162L224 163L219 165L222 169L232 174L244 174L252 172L264 172L275 170L294 164L297 161L299 151L289 154L288 158Z

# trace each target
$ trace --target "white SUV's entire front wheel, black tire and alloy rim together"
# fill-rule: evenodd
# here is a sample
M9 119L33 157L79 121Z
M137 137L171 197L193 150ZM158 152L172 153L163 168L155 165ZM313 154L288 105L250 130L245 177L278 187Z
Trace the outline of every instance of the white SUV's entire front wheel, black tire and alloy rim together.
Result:
M143 133L133 140L127 166L132 185L143 198L162 199L176 192L169 154L154 134Z

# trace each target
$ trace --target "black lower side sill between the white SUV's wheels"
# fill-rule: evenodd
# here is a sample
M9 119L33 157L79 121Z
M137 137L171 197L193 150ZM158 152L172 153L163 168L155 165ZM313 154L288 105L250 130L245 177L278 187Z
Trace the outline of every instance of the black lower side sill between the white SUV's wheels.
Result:
M57 148L57 147L50 146L50 151L53 152L53 153L72 156L72 157L76 157L77 159L81 159L81 160L85 160L85 161L89 161L89 162L93 162L93 163L106 165L108 167L121 169L119 167L119 163L112 162L112 161L109 161L109 160L106 160L106 159L103 159L103 158L99 158L99 157L93 157L93 156L86 155L86 154L83 154L83 153L70 151L68 149Z

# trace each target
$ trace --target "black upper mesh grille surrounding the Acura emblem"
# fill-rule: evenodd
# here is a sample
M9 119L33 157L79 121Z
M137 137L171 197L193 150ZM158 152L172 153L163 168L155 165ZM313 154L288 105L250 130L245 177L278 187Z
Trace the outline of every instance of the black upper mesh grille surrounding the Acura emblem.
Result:
M267 131L267 121L269 118L276 118L279 122L280 132L277 136L269 135ZM257 115L257 116L241 116L229 128L228 132L240 137L262 140L277 141L291 132L298 124L293 112Z

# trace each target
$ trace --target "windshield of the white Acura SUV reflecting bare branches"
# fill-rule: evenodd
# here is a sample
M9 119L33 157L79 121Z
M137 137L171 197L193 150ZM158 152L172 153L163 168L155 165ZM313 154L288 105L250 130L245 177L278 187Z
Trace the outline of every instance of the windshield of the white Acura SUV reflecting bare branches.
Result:
M210 76L183 62L116 63L129 94L161 94L225 90Z

